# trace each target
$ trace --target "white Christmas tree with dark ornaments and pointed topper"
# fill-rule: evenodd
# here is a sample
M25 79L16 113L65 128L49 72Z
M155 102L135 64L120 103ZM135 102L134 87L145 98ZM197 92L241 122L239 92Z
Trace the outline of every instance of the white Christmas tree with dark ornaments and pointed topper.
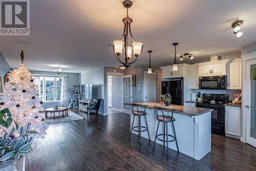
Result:
M32 79L32 74L25 68L24 52L20 54L22 62L19 68L12 70L9 74L9 81L4 86L4 91L0 97L0 106L2 109L9 108L12 118L17 122L18 126L25 126L26 123L31 123L31 130L38 132L37 138L45 138L48 125L45 123L44 114L42 111L42 101L39 99L38 86ZM7 129L15 127L15 123ZM5 132L0 129L0 134Z

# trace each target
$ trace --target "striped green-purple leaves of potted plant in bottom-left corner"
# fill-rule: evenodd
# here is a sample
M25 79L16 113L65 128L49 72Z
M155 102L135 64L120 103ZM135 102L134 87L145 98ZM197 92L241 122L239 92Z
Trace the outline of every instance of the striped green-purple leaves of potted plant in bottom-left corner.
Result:
M19 127L17 137L13 134L15 131L15 128L12 127L9 134L5 133L3 137L0 137L1 162L8 160L16 162L32 149L31 144L34 138L31 134L37 134L37 132L30 130L30 123L27 123L25 127Z

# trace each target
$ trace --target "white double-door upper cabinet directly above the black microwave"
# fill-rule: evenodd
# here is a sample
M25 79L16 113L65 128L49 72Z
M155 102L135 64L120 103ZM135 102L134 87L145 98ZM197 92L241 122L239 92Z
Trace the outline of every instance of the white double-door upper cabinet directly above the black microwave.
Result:
M221 76L227 75L226 66L229 59L197 63L198 76Z

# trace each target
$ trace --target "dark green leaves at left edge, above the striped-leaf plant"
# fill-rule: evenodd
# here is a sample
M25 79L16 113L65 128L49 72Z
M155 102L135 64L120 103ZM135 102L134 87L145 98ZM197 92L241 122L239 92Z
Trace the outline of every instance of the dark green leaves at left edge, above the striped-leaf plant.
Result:
M15 123L16 130L17 130L18 124L16 123L15 120L12 119L11 116L12 116L11 112L9 111L8 108L1 110L0 111L0 126L6 127L6 129L8 129L8 127L12 124L12 121L13 121Z

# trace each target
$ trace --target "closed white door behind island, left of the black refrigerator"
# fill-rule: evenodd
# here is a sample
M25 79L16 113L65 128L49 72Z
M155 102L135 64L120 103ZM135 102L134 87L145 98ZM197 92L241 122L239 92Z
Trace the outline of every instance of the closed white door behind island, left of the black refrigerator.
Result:
M143 94L144 101L157 101L157 76L155 74L144 74Z

